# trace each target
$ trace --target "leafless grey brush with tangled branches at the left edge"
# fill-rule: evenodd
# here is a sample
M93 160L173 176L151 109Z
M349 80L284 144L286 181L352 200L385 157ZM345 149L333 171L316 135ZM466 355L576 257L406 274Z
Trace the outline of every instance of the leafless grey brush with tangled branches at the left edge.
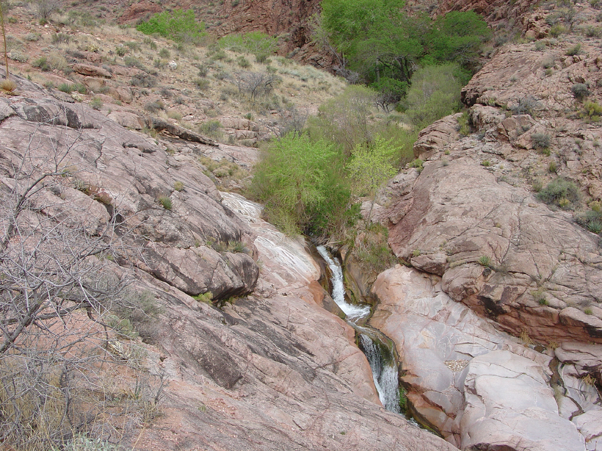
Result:
M135 248L117 221L91 231L82 212L61 201L78 139L49 137L44 146L33 139L0 159L0 443L15 449L64 449L81 434L120 437L111 417L126 413L140 426L163 390L149 375L141 386L127 368L102 386L100 363L144 360L141 345L124 345L110 325L111 309L132 299L128 271L113 260L127 262Z

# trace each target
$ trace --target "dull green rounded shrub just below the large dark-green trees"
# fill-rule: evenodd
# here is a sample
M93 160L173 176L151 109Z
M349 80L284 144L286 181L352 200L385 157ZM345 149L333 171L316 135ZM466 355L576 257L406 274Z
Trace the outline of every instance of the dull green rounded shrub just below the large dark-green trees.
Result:
M412 76L406 114L419 127L458 112L462 72L457 64L427 66Z

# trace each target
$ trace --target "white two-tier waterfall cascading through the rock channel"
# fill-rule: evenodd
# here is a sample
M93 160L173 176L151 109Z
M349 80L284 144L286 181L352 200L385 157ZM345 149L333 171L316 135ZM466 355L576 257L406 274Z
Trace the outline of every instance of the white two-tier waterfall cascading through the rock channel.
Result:
M317 251L326 261L332 273L332 299L343 310L347 322L358 331L359 348L364 352L368 363L370 363L380 402L386 410L399 413L399 375L393 357L393 343L382 336L379 331L356 324L360 319L370 314L370 305L353 305L345 300L343 270L340 263L336 258L330 257L330 253L324 246L318 246Z

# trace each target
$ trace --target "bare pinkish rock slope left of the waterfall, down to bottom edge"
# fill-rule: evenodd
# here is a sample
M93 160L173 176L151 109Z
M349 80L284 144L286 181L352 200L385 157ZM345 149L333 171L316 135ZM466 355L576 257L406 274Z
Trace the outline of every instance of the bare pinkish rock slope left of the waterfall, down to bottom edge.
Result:
M144 357L134 366L137 381L161 375L166 382L161 416L123 429L123 446L453 449L383 410L352 328L318 305L327 294L303 242L262 221L256 204L220 194L198 161L234 154L250 162L252 150L148 138L13 79L18 95L0 94L4 191L26 176L15 168L37 162L36 171L60 157L61 176L42 187L31 215L57 227L82 222L90 236L118 217L125 245L107 268L161 307L147 343L138 340ZM220 310L191 297L206 292L233 302ZM107 358L128 360L133 347L113 340L119 352ZM102 376L110 385L112 365ZM104 428L96 433L115 440Z

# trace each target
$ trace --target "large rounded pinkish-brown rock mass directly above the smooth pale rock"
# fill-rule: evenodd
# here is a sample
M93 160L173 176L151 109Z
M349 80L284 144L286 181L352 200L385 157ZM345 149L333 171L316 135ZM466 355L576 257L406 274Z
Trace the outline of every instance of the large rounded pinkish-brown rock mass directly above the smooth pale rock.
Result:
M389 229L394 253L441 275L453 299L517 335L602 343L600 318L572 307L602 298L597 238L569 213L551 213L530 192L498 182L472 151L447 165L426 163L409 182L412 191L396 201L407 212Z

